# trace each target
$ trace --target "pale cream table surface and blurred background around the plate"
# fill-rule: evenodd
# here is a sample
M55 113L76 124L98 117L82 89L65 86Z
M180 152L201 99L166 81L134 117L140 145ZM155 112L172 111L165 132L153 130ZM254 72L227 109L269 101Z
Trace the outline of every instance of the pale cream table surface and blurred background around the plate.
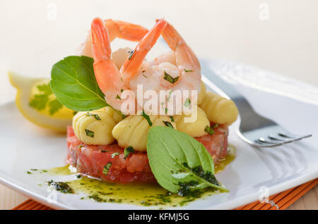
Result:
M49 77L52 64L74 54L97 16L148 28L165 17L200 57L247 63L318 85L317 0L1 0L0 104L15 97L7 70ZM25 199L0 185L0 209ZM315 187L290 209L318 209L317 201Z

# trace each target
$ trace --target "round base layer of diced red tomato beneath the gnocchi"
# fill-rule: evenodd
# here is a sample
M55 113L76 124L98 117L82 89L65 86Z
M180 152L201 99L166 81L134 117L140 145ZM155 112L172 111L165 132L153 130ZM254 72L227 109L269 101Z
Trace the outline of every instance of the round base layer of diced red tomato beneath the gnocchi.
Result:
M67 162L75 166L79 173L111 182L156 182L146 153L136 152L125 159L124 149L118 144L83 144L74 135L71 126L67 130L69 150ZM217 162L219 158L225 156L227 151L228 127L219 125L213 130L215 131L213 135L205 135L196 139L204 144L213 160ZM103 171L107 163L112 163L112 166L105 175Z

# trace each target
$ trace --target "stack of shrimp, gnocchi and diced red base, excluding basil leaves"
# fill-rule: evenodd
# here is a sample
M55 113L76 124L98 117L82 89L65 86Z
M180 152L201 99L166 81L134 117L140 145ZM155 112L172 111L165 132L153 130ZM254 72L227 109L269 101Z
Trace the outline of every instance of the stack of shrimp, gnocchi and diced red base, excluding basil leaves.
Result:
M114 27L124 27L129 32L123 34L122 30L115 30ZM204 145L215 163L225 157L228 125L237 119L237 108L232 101L206 92L206 87L201 82L199 61L171 25L158 20L155 27L148 32L137 25L113 20L102 23L95 19L91 33L92 36L88 35L83 44L81 54L93 55L96 80L107 103L112 107L81 111L73 117L73 127L68 128L67 138L69 164L75 166L80 173L102 180L155 182L147 155L147 136L154 126L168 126L194 137ZM110 56L109 43L114 39L114 34L140 41L139 45L134 51L119 49ZM146 61L144 57L160 35L163 35L172 51L154 61ZM92 42L93 51L90 45ZM122 104L118 90L134 90L136 84L147 87L151 85L155 90L199 87L197 105L194 105L196 119L190 123L185 122L184 118L192 116L189 113L167 116L146 115L144 112L142 115L128 115L123 118L116 111ZM188 101L191 102L189 99Z

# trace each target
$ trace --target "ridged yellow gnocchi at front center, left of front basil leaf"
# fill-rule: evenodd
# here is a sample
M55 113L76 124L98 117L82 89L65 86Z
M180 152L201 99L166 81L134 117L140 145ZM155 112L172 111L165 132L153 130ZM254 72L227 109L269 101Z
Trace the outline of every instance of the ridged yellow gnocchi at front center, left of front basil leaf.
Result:
M149 118L153 123L152 126L165 126L164 122L168 122L173 128L177 129L177 125L168 116L150 115ZM147 136L150 128L151 126L146 118L141 115L131 115L114 126L112 135L120 147L133 147L136 151L146 151Z

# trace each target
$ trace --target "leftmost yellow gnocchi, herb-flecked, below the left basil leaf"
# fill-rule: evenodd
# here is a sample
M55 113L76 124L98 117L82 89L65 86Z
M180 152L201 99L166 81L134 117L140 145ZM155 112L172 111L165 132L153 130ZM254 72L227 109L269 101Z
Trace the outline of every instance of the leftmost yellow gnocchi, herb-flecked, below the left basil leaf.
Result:
M95 111L81 111L73 117L76 137L85 144L111 144L112 129L122 117L109 106Z

